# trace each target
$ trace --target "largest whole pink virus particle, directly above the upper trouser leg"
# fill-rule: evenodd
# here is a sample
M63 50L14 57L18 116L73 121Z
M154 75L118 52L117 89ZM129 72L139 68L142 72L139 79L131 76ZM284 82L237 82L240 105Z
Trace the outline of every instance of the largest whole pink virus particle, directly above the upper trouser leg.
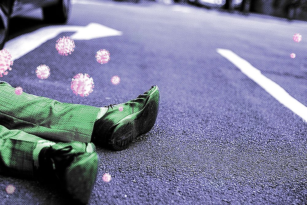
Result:
M79 73L72 78L70 88L76 95L80 95L81 97L88 96L91 92L93 92L93 78L90 78L87 73L84 73L84 75Z

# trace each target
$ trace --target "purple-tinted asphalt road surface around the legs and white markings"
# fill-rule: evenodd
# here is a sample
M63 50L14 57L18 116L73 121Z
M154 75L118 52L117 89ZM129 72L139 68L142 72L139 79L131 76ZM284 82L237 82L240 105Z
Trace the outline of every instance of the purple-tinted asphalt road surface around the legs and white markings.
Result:
M307 106L306 22L191 5L76 1L67 24L91 22L122 35L75 40L75 51L63 57L55 42L74 34L64 31L1 78L27 93L94 106L159 86L153 129L120 152L98 147L89 204L307 204L306 121L216 51L236 53ZM295 33L301 42L292 40ZM100 49L111 53L106 64L95 59ZM44 81L35 75L40 64L50 67ZM70 90L77 73L94 80L87 97ZM14 176L1 176L0 192L1 204L69 203L56 187Z

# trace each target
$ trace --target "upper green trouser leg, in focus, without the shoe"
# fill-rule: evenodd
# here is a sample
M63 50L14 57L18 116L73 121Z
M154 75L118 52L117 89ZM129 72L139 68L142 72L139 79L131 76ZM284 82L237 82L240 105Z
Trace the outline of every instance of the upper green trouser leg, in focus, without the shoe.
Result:
M98 107L61 103L23 92L0 81L0 124L51 141L89 143Z

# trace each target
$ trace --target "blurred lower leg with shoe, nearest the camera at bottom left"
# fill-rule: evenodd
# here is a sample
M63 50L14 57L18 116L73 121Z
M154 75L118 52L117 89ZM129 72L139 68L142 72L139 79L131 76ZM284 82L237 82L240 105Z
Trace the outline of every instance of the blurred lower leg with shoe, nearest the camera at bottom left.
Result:
M72 199L87 203L98 162L92 143L55 143L0 125L0 174L57 180Z

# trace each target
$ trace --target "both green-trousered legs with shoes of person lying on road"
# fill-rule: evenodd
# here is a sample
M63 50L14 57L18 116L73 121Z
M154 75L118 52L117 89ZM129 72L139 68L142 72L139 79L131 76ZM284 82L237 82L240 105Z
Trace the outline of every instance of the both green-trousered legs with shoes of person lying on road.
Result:
M122 150L156 121L159 89L103 108L61 103L0 81L0 174L57 180L77 203L87 203L96 180L95 143Z

